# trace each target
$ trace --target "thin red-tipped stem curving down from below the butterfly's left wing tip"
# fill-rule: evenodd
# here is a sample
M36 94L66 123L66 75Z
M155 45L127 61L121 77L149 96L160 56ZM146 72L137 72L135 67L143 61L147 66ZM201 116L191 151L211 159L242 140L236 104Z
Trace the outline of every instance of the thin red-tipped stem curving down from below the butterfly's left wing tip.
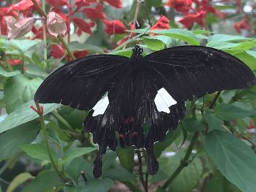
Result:
M41 123L42 137L43 137L45 145L46 145L46 150L47 150L48 156L50 158L50 163L53 165L53 169L59 175L61 180L63 180L65 182L66 178L64 177L64 174L58 169L57 165L55 164L55 162L53 160L53 155L50 153L50 145L49 145L48 138L47 138L47 131L46 131L46 127L45 127L45 120L44 120L44 117L42 115L42 112L40 112L41 109L40 109L40 106L39 106L39 102L35 101L35 104L36 104L36 107L37 107L37 111L38 111L38 115L39 115L39 120L40 120L40 123Z

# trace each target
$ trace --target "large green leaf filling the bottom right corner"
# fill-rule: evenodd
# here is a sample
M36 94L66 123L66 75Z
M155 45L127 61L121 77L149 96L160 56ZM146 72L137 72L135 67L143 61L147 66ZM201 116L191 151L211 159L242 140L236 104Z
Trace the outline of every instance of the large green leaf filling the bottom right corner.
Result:
M256 155L252 148L224 131L206 135L206 151L219 171L241 191L255 191Z

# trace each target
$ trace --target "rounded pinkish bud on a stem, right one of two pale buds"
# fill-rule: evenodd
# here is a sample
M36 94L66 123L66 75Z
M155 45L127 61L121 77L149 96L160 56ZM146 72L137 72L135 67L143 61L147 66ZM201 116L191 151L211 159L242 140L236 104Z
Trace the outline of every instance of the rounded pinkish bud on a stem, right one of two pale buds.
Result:
M67 26L63 18L56 12L49 12L47 15L47 27L51 35L57 37L59 34L65 34Z

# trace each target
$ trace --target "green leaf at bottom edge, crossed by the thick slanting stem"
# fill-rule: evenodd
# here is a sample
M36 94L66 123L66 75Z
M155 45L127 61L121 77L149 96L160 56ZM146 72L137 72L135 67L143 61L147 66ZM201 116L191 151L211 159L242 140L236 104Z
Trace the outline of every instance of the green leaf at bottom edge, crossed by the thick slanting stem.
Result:
M180 164L181 158L184 157L184 152L178 152L171 158L168 158L163 165L163 170L166 174L172 174L178 165ZM184 167L182 171L178 174L173 183L169 186L168 191L175 192L187 192L192 191L195 188L201 178L203 173L203 166L200 158L195 157L188 166Z

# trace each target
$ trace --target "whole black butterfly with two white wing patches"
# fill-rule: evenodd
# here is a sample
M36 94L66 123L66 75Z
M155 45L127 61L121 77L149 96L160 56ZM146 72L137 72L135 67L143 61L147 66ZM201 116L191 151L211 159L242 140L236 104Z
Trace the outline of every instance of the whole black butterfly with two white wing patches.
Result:
M256 82L242 61L210 47L172 47L143 57L137 45L132 52L131 58L91 55L72 61L50 74L34 96L40 103L91 110L84 126L99 144L94 177L102 174L102 154L107 147L116 150L118 141L121 147L145 147L148 174L156 174L154 142L164 141L184 118L184 101ZM144 123L150 124L147 133Z

